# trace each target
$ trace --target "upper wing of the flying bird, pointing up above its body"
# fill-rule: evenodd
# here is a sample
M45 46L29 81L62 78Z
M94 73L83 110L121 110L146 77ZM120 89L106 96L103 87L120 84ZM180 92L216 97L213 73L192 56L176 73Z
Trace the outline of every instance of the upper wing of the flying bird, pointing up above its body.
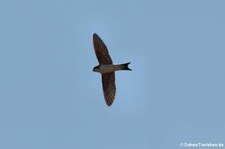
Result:
M99 64L112 64L113 62L106 45L96 33L93 35L93 43Z

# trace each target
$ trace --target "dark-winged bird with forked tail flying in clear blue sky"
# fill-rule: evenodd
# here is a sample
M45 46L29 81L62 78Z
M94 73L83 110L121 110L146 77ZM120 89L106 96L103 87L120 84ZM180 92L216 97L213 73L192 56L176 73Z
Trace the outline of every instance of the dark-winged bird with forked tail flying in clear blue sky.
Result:
M116 95L115 71L131 71L128 67L130 62L114 65L109 55L107 46L96 33L93 34L93 45L99 62L99 65L95 66L93 71L101 74L104 99L107 106L111 106Z

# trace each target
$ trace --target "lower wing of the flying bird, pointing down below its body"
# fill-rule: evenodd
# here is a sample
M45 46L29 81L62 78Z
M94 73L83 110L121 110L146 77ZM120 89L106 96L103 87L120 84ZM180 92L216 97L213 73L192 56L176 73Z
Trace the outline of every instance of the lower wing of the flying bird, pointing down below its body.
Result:
M105 102L111 106L116 95L115 73L102 74L102 87L105 97Z

